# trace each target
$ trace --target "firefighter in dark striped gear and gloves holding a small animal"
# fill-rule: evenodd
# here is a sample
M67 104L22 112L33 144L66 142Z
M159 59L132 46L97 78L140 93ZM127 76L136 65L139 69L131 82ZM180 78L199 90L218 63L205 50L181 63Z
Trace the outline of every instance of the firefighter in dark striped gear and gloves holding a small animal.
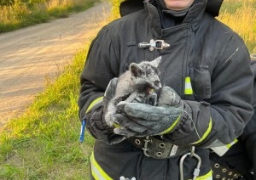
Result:
M91 179L212 179L209 149L228 150L253 115L250 55L214 18L221 3L145 0L99 31L79 94L79 118L96 139ZM105 121L118 77L132 62L157 57L157 106L141 93Z

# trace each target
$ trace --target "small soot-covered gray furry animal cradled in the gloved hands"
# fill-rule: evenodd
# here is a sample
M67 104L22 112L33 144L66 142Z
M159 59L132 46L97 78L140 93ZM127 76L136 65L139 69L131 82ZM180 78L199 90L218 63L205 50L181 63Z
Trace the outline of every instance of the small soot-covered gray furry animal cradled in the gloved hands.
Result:
M161 56L153 61L143 61L139 64L131 63L129 70L119 76L115 94L109 101L105 115L108 126L113 126L112 116L117 112L116 106L120 101L131 102L133 100L131 94L134 94L135 98L137 93L150 94L153 90L160 89L160 72L157 69L160 59ZM128 97L130 100L127 100Z

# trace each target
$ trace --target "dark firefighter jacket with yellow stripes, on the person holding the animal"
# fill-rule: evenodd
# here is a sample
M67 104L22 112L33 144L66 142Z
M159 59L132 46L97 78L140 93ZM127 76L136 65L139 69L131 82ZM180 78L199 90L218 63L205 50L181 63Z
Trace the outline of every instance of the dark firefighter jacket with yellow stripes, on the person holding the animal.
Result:
M232 143L253 115L253 73L244 42L234 31L205 12L207 0L197 0L182 24L162 29L152 2L136 13L114 20L91 43L81 75L79 116L96 140L92 161L113 179L178 179L179 157L148 158L111 133L102 119L101 99L108 82L128 69L131 62L162 56L161 82L172 87L189 104L193 121L185 121L166 141L194 144L201 156L201 175L210 171L208 150ZM154 2L153 2L154 3ZM163 40L170 47L138 48L140 42ZM193 93L186 93L186 84ZM95 104L95 105L94 105ZM94 105L94 106L93 106ZM91 108L93 107L93 108ZM191 178L196 160L184 162L183 177ZM96 175L95 175L96 176Z

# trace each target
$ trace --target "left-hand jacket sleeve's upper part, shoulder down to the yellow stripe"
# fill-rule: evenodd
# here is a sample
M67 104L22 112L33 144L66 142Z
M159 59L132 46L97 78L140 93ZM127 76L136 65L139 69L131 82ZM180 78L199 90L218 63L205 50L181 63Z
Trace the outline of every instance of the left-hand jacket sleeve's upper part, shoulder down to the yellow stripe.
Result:
M113 67L115 58L113 45L108 37L108 29L103 27L97 37L91 42L80 76L79 117L84 119L89 112L90 104L96 98L103 96L108 82L117 76L116 67ZM111 62L112 60L112 62Z

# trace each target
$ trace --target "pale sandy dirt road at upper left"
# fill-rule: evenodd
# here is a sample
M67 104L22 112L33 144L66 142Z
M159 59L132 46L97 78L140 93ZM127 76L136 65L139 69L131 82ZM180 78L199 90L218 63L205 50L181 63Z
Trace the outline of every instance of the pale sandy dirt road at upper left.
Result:
M20 115L43 91L45 76L60 73L99 31L108 3L82 13L0 34L0 127Z

